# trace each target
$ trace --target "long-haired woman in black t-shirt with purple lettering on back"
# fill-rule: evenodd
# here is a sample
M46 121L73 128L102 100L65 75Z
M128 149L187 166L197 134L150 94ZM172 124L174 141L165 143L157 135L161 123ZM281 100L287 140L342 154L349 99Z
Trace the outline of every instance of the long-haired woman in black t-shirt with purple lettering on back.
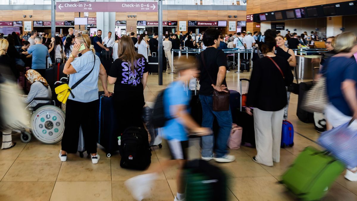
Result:
M148 64L137 54L129 36L122 36L116 59L110 69L108 82L114 86L114 108L118 117L118 134L127 127L142 127L142 108L145 105L144 89ZM119 135L118 135L119 136Z

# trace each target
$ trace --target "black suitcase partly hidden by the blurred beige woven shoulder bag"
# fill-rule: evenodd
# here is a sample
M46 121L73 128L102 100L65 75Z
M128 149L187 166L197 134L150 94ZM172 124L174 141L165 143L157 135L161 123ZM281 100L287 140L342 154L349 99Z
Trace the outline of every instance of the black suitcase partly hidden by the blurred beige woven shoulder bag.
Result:
M302 100L304 98L305 92L308 91L313 85L313 82L301 82L299 84L299 95L297 101L296 116L300 121L305 123L314 123L313 113L307 112L301 108Z

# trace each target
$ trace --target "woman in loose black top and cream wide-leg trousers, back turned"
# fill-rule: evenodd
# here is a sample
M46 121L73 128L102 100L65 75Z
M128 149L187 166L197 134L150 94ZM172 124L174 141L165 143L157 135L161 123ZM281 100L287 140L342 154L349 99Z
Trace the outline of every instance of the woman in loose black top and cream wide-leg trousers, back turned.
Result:
M261 45L265 57L256 60L247 95L248 114L254 108L257 155L253 161L266 166L280 162L281 123L287 103L286 86L293 81L289 63L274 54L276 40L266 37ZM277 65L275 65L275 63Z

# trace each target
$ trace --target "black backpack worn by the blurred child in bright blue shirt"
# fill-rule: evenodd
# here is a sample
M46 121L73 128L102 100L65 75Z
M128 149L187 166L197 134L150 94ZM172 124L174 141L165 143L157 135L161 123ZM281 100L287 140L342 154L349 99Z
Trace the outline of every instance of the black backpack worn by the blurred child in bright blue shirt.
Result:
M166 89L162 90L156 97L154 109L152 111L152 124L155 128L161 128L165 126L166 121L170 120L165 117L164 111L164 93Z

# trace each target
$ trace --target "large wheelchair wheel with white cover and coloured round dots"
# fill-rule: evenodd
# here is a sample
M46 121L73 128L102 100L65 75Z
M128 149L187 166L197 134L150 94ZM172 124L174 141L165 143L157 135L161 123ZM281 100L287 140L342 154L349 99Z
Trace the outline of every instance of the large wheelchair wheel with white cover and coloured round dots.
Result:
M32 133L40 142L55 144L61 141L65 129L65 114L56 106L42 106L31 116Z

